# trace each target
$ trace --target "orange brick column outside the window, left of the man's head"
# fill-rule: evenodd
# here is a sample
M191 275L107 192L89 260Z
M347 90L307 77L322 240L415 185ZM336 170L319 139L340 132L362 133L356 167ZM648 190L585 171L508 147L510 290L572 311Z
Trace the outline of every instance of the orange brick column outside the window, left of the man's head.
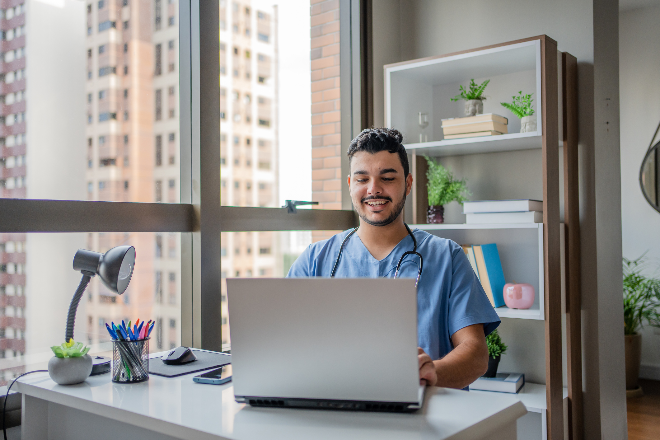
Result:
M312 19L312 200L341 209L339 0L310 0ZM319 241L338 231L314 231Z

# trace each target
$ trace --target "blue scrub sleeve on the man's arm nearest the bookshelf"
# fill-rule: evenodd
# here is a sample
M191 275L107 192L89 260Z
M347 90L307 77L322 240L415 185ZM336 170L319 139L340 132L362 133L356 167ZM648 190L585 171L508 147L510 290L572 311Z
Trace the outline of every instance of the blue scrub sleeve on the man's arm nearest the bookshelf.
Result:
M500 325L495 309L470 265L463 249L451 249L451 294L449 295L449 337L460 329L483 324L486 336Z

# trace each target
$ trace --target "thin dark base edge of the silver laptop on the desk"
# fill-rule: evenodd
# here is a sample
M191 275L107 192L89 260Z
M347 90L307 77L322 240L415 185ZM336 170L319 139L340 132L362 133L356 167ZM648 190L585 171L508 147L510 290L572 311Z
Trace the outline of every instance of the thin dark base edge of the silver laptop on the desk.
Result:
M367 400L273 398L259 396L236 396L236 402L249 404L250 406L269 406L271 408L314 408L319 410L372 412L414 412L420 408L418 402L373 402Z

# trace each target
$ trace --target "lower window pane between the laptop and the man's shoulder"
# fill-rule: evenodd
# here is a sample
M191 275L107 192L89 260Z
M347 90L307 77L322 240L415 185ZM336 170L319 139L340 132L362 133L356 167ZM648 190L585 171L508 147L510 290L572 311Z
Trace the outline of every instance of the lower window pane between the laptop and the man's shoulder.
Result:
M222 232L222 344L231 344L226 278L282 278L310 244L338 232Z

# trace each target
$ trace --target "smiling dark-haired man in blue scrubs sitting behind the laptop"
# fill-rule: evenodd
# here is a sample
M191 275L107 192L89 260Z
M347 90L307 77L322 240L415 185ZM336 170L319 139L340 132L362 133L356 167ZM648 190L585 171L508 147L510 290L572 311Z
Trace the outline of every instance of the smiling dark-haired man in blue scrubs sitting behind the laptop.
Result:
M344 245L337 277L391 278L401 255L413 250L403 223L413 175L402 141L399 131L380 128L366 129L350 142L348 187L360 226ZM351 231L310 245L288 276L330 276ZM460 245L418 229L412 233L424 258L417 286L420 379L427 385L467 387L486 372L486 335L500 319ZM398 276L416 278L416 263L416 255L407 255Z

